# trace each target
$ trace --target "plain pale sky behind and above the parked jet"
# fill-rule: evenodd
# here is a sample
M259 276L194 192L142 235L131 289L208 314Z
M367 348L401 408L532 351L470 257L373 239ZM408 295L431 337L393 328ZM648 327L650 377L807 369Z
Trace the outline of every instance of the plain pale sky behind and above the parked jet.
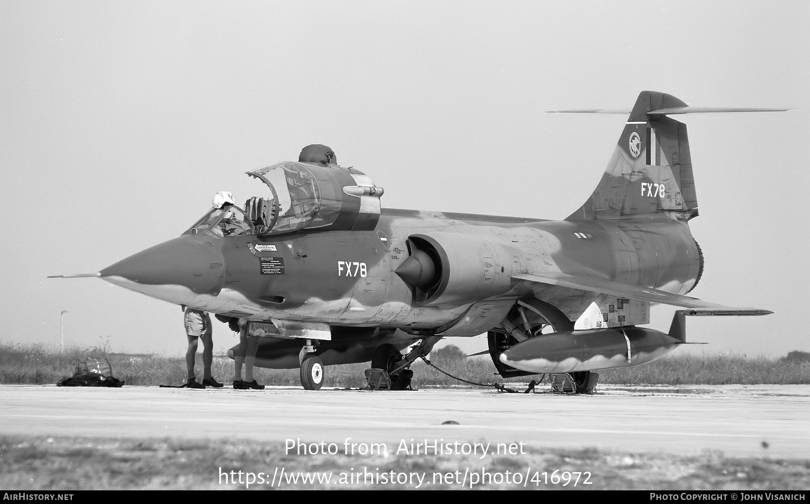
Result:
M689 340L810 351L808 26L808 2L0 0L0 340L58 345L66 309L69 344L181 354L177 306L45 277L179 235L217 191L256 193L243 172L309 143L367 173L386 207L565 218L626 118L543 112L630 108L649 89L800 109L676 118L706 256L690 295L775 312L690 319ZM219 323L214 340L237 342Z

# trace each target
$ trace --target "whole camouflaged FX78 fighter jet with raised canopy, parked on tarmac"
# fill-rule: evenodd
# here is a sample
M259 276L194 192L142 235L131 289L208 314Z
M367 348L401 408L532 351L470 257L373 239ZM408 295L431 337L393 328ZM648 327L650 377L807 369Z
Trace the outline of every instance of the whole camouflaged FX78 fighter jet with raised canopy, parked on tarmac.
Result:
M561 221L383 209L369 176L307 146L297 162L247 172L257 184L244 208L220 194L177 238L65 277L249 320L256 365L298 367L307 389L321 387L324 366L369 361L390 388L407 388L409 366L441 338L487 332L502 376L563 374L589 392L592 371L683 344L685 315L771 313L685 295L703 254L689 231L686 126L669 117L764 110L776 109L695 108L642 91L594 193ZM668 334L640 327L650 303L683 308Z

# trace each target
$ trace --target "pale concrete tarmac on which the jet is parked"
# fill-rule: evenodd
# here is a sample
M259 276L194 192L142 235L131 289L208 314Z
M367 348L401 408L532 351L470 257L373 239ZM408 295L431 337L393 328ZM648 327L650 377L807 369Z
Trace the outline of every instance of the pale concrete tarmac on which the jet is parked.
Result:
M593 396L488 390L234 391L0 385L0 433L285 443L524 443L806 459L810 385L619 387ZM458 425L442 425L457 421ZM348 439L348 441L347 441ZM346 444L347 443L347 444Z

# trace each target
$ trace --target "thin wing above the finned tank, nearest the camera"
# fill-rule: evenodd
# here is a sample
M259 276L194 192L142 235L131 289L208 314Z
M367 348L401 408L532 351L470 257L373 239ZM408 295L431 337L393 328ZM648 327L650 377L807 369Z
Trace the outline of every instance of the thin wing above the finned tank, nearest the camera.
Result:
M516 273L513 278L529 282L545 283L552 286L569 287L599 294L610 294L620 298L638 299L650 303L670 304L676 307L689 308L690 316L758 316L768 315L773 311L759 308L725 307L721 304L706 303L701 299L690 298L680 294L671 294L650 287L629 286L612 280L590 277L587 275L566 275L564 273Z

